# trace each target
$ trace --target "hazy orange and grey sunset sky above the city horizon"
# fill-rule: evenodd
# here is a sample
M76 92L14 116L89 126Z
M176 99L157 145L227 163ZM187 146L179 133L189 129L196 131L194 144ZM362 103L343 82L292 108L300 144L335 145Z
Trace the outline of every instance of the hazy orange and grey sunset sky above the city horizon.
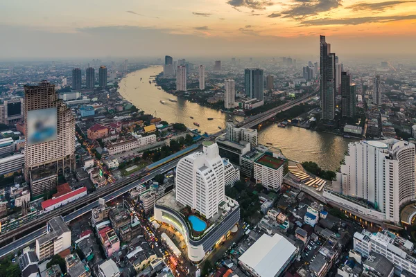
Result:
M415 53L412 0L1 2L2 58Z

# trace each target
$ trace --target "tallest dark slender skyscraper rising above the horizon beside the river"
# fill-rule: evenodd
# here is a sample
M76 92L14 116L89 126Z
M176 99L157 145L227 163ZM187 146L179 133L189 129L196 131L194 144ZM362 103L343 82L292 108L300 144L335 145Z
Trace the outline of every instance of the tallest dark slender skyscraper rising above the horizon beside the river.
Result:
M320 36L320 89L322 119L333 120L335 117L335 54L331 53L331 44Z

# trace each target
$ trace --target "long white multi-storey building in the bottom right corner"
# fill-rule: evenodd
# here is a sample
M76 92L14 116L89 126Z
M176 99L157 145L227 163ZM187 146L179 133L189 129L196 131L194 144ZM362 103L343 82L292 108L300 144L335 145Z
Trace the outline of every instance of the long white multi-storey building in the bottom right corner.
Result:
M379 254L390 260L395 267L395 275L400 276L403 271L416 275L416 258L413 254L414 244L389 231L370 233L363 230L354 233L354 251L363 258L370 258ZM371 258L370 258L371 259ZM372 267L367 264L367 267ZM388 271L388 270L384 270Z

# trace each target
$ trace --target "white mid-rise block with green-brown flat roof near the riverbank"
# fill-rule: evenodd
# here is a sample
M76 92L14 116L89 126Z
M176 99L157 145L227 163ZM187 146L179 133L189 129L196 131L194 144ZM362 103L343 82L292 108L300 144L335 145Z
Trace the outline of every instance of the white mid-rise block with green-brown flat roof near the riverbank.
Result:
M268 190L279 191L283 182L286 161L265 153L254 161L254 179Z

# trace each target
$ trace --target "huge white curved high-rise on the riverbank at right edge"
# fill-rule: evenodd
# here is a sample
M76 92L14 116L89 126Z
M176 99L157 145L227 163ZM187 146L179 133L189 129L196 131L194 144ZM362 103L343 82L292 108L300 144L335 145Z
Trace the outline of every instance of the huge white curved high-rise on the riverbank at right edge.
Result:
M400 207L415 199L415 189L415 145L396 139L349 143L333 182L336 193L371 203L391 222L400 221Z

